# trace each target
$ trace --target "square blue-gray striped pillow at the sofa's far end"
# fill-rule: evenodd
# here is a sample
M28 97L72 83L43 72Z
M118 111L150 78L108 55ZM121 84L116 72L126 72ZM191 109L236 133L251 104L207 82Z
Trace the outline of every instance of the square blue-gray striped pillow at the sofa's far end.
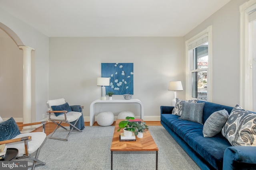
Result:
M203 124L203 109L204 102L202 103L187 103L183 104L182 115L180 119L194 121Z

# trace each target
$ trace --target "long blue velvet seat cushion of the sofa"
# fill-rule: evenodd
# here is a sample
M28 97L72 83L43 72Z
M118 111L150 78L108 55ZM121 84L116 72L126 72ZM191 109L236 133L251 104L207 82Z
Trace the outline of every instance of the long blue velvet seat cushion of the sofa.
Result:
M223 155L230 143L219 133L215 137L205 138L200 123L179 119L180 116L162 114L161 119L188 145L215 169L222 169ZM209 147L211 146L211 147Z

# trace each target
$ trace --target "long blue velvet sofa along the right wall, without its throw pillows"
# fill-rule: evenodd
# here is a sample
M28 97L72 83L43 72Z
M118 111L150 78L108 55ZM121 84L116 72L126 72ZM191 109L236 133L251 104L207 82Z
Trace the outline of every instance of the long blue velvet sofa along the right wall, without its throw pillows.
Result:
M203 101L198 101L203 102ZM204 102L203 124L215 111L233 107ZM221 133L214 137L204 137L203 125L179 119L173 115L171 106L161 106L161 124L202 170L256 170L256 147L232 145Z

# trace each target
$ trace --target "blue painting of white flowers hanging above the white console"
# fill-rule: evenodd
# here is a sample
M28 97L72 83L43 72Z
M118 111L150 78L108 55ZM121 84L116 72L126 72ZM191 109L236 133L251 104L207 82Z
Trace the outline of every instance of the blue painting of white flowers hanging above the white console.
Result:
M101 63L101 76L109 77L106 93L133 94L133 63Z

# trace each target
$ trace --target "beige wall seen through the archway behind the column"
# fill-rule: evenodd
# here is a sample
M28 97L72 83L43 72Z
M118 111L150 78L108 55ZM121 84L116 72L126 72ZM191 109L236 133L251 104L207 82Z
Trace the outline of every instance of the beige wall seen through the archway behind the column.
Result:
M22 50L0 29L0 113L20 117L23 100Z

